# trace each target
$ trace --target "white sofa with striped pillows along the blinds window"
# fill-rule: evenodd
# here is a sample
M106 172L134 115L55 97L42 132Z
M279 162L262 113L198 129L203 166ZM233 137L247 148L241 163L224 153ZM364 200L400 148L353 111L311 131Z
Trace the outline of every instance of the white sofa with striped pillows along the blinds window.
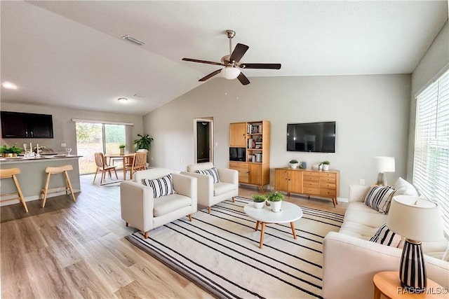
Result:
M339 232L329 232L323 242L323 297L373 298L373 276L382 271L398 271L401 245L398 248L370 242L387 221L364 204L370 186L349 186L349 206ZM406 195L410 195L405 193ZM401 242L402 243L402 242ZM448 240L423 242L427 278L449 288L449 262L443 260ZM447 253L446 253L447 255Z

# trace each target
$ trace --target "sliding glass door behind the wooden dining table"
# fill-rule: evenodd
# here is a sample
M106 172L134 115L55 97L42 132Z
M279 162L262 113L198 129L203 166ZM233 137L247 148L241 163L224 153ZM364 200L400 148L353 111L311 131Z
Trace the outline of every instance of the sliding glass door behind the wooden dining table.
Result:
M79 158L79 173L91 174L97 169L95 153L119 153L119 145L126 144L124 125L103 123L76 123L76 152Z

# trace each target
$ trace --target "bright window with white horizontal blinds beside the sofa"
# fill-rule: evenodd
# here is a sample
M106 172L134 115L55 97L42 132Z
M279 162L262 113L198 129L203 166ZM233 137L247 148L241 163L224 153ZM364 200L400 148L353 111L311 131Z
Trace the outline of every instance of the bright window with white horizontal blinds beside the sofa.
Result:
M449 235L449 70L417 96L413 183L438 202Z

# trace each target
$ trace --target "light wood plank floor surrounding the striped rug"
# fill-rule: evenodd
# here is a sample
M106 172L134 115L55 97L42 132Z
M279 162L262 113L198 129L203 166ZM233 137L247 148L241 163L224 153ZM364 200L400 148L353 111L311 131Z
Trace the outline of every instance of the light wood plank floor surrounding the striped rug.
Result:
M119 186L81 176L69 196L1 207L1 298L213 298L124 237ZM257 188L241 187L251 197ZM285 200L344 214L347 204L292 196ZM150 232L151 234L151 232Z

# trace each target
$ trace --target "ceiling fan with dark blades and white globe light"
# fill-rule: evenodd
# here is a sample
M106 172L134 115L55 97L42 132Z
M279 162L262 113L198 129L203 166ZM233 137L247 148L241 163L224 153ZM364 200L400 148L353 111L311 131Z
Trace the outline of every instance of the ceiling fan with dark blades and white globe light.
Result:
M234 32L234 30L226 30L225 33L229 39L230 54L223 56L221 62L211 62L207 60L182 58L182 60L184 61L215 64L224 67L222 69L217 69L216 71L213 71L207 76L204 76L203 78L199 79L199 81L206 81L209 78L212 78L213 76L222 73L222 76L227 79L238 78L240 83L242 83L243 85L247 85L250 83L250 81L248 80L248 78L246 78L246 76L241 72L240 69L281 69L280 63L239 63L241 57L245 55L249 47L243 45L243 43L237 43L236 48L234 48L234 51L232 51L232 38L236 35L236 32Z

